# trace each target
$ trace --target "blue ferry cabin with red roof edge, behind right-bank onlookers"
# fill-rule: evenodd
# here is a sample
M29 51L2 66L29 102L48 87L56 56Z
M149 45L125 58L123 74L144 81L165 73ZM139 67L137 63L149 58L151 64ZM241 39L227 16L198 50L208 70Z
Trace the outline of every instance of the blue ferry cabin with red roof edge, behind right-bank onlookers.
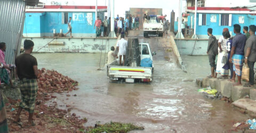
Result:
M187 7L187 26L194 28L198 38L208 38L207 29L213 29L213 35L219 38L223 28L228 28L231 36L235 36L233 25L239 24L242 28L256 24L256 15L248 9L231 9L230 7L197 7L197 19L194 24L195 7ZM242 29L241 29L241 32Z

